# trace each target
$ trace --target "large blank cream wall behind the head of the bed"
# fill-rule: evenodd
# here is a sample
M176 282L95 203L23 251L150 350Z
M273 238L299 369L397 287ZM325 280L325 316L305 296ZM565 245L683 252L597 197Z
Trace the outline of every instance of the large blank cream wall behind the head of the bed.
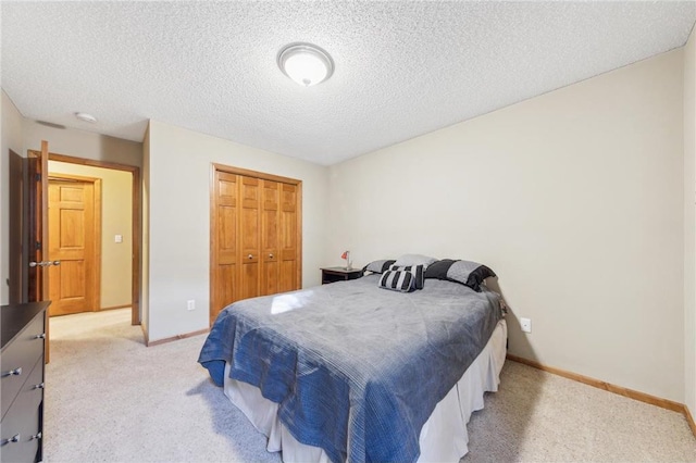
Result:
M332 166L327 263L485 263L511 353L683 402L682 57Z

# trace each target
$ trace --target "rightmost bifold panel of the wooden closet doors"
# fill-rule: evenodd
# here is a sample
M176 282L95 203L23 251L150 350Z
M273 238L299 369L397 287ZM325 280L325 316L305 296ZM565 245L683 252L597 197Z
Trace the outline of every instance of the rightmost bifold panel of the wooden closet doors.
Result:
M279 292L299 289L301 281L299 225L299 188L297 185L281 184L281 262L278 265Z

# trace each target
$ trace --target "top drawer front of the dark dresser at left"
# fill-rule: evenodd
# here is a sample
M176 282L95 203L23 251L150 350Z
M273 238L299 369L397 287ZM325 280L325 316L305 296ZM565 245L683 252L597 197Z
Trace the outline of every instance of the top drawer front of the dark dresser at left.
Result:
M38 359L44 358L44 313L41 312L2 351L2 360L0 360L0 371L2 372L2 392L0 396L2 418L4 418L17 392L27 380L27 376L33 372Z

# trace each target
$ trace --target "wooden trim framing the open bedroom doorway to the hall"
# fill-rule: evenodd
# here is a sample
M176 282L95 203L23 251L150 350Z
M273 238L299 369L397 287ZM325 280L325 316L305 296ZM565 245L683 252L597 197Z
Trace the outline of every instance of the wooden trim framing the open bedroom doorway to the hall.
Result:
M129 172L133 175L133 266L132 266L132 306L130 306L130 324L139 325L141 322L140 314L140 242L142 241L142 227L140 226L140 167L136 165L119 164L116 162L97 161L85 158L76 158L66 154L58 154L49 152L49 161L60 161L71 164L88 165L91 167L111 168L113 171Z

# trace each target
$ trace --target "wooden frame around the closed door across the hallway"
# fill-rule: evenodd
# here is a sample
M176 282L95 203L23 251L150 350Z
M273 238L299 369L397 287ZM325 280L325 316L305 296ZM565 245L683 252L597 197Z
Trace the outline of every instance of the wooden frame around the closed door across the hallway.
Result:
M50 159L49 159L50 160ZM49 184L49 190L51 188L51 182L61 182L61 183L79 183L79 184L92 184L94 190L92 190L92 228L94 228L94 234L95 234L95 240L92 242L92 250L91 250L91 254L94 255L94 272L92 275L95 276L95 280L94 283L94 289L91 291L91 300L88 301L89 305L92 308L91 311L92 312L98 312L99 309L101 308L101 239L102 239L102 226L101 226L101 204L102 204L102 197L101 197L101 178L97 178L97 177L84 177L80 175L72 175L72 174L51 174L50 172L48 173L48 184ZM49 199L49 209L50 209L50 199ZM49 214L50 217L50 214ZM51 221L49 218L48 223L46 224L48 226L49 229L49 235L50 235L50 229L51 229ZM55 225L53 225L55 226ZM50 242L50 241L49 241ZM51 252L50 247L48 250L49 254ZM50 260L50 258L47 258L48 260ZM51 270L49 268L49 272ZM50 280L49 280L49 295L50 295ZM50 308L49 308L50 311Z

